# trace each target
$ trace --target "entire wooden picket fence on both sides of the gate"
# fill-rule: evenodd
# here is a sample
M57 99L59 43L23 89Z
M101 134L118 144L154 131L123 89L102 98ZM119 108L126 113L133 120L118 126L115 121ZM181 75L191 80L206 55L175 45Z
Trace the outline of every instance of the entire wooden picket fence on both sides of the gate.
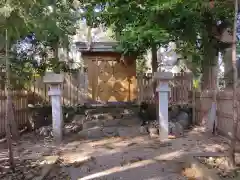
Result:
M155 104L156 101L155 95L153 94L152 74L137 76L137 83L137 101L139 103L146 101L148 103ZM170 88L170 105L191 104L191 101L194 100L195 122L198 124L204 124L204 121L208 118L207 114L211 107L212 94L210 92L197 92L195 93L195 96L192 97L192 75L190 73L174 74L174 78L170 81ZM62 85L62 89L62 103L64 105L74 106L77 104L83 104L87 100L87 74L85 72L65 74L65 82ZM240 94L238 95L238 100L240 101ZM43 83L41 77L34 78L31 87L29 87L27 91L13 91L15 118L20 128L24 127L28 121L28 104L37 104L42 102L50 103L50 100L48 96L48 86ZM229 132L231 132L232 109L232 92L227 90L219 92L217 95L218 129L224 134L229 134ZM6 94L4 90L1 90L0 136L5 134L5 110ZM238 134L238 137L240 138L240 132Z

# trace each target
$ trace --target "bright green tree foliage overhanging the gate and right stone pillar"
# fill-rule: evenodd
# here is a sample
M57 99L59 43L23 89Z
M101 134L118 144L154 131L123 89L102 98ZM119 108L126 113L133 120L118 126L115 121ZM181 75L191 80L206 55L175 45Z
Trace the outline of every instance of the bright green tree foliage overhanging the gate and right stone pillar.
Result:
M219 39L232 23L232 3L228 1L215 0L214 6L209 6L209 0L92 2L101 5L100 18L113 28L120 51L141 55L174 41L184 58L191 56L187 60L201 66L203 79L208 79L209 68L216 64L217 52L230 46ZM152 65L156 66L156 58Z

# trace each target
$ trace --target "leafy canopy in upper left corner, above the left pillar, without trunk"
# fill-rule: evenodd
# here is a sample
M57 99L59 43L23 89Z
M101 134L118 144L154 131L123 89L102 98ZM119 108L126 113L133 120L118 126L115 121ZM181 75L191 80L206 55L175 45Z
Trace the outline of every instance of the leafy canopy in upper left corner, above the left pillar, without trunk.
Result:
M56 56L48 55L49 50L57 51L58 45L68 47L78 18L72 1L0 0L0 50L4 57L7 30L13 79L25 82L49 67L55 71L65 68ZM25 43L26 37L34 38ZM26 44L29 47L24 49ZM1 58L1 64L4 66L5 58Z

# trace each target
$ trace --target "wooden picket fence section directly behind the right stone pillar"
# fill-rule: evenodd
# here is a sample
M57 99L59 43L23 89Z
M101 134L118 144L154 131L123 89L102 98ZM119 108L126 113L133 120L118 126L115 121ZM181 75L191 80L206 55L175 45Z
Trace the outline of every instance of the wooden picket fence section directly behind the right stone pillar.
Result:
M147 102L155 104L155 95L153 91L152 74L144 74L137 76L138 83L138 103ZM157 82L159 83L159 82ZM192 74L191 73L176 73L173 74L173 79L169 83L171 91L169 93L169 104L188 104L191 101L192 94Z

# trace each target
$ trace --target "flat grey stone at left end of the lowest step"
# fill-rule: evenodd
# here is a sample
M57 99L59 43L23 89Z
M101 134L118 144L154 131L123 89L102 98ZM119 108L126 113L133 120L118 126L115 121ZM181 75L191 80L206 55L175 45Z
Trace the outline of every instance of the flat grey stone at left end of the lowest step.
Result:
M104 137L102 127L93 127L90 129L83 129L82 131L78 132L78 135L82 138L89 138L89 139L98 139L98 138Z

